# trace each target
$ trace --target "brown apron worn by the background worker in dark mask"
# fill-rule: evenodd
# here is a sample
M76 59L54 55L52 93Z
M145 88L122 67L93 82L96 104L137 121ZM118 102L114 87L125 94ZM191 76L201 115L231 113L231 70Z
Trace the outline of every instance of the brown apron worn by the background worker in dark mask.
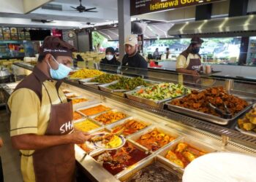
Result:
M189 65L187 66L187 70L192 70L192 71L200 71L201 67L201 60L199 58L197 59L190 59L189 60ZM195 86L195 84L200 84L200 76L195 76L195 75L183 75L183 82L186 83L187 85Z

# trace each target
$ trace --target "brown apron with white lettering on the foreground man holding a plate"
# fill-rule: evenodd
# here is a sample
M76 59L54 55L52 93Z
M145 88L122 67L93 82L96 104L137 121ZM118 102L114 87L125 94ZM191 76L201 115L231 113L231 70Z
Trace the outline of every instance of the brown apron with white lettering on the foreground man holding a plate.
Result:
M42 84L44 87L45 85ZM45 87L48 97L50 95ZM57 90L58 92L58 90ZM58 92L59 95L59 92ZM59 98L61 100L61 98ZM50 122L45 135L67 135L73 132L72 103L52 104L50 100ZM75 181L74 144L51 146L33 154L34 174L37 182Z

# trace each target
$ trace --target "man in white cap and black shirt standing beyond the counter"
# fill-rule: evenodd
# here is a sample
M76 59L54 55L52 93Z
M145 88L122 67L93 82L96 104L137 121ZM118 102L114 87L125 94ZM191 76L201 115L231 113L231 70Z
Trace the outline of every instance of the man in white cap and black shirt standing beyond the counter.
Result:
M130 35L127 37L127 39L124 42L125 46L125 52L126 55L124 55L124 58L122 60L122 66L127 66L127 67L133 67L134 68L134 73L135 74L146 74L146 70L148 68L148 63L146 60L138 53L138 39L137 36L135 35ZM140 68L140 69L136 69ZM129 70L132 70L129 68ZM142 71L142 72L140 72Z

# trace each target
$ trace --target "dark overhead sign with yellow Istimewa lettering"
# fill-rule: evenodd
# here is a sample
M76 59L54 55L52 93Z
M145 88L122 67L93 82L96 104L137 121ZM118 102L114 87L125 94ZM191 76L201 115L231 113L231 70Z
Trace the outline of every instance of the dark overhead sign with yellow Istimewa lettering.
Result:
M223 0L130 0L131 15L159 12L167 9L189 7Z

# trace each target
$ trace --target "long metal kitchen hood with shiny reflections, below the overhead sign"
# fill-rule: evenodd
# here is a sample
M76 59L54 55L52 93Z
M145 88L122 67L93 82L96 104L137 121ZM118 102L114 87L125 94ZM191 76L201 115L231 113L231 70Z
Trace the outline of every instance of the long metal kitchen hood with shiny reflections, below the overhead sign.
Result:
M256 15L176 23L167 33L180 38L256 36Z

